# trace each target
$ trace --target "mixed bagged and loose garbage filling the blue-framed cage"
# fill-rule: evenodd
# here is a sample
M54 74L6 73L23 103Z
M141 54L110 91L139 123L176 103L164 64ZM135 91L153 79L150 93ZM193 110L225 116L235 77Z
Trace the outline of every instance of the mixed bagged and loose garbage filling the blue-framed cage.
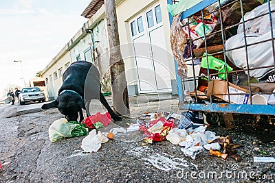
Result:
M184 90L199 103L274 105L275 1L223 0L201 11L194 8L197 3L201 0L167 6L174 16L170 43ZM189 8L193 14L181 19Z

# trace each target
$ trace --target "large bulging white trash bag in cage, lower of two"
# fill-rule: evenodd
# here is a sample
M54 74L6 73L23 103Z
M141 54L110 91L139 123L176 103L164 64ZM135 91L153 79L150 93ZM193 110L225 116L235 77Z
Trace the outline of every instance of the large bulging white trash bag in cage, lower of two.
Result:
M275 29L273 29L273 32ZM274 32L275 33L275 32ZM268 40L271 38L270 32L267 32L263 35L256 33L247 33L246 41L247 45L250 45L254 42L261 42L263 40ZM246 64L246 56L245 56L245 38L243 33L236 34L232 36L225 42L225 49L230 50L237 47L242 47L240 49L234 49L230 51L226 51L225 54L228 59L237 67L245 69L245 74L248 75L248 66ZM273 51L272 51L272 42L261 42L256 45L251 45L248 48L248 63L250 69L260 66L271 66L274 64ZM274 71L274 67L263 68L263 69L254 69L250 70L250 77L256 77L258 81L263 80L265 75Z

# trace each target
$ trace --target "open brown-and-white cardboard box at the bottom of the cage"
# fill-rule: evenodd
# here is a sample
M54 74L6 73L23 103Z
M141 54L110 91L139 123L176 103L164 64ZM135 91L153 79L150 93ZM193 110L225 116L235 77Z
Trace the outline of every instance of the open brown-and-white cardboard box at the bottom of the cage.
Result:
M208 83L207 97L210 97L210 95L214 95L216 97L219 97L220 99L223 99L224 101L229 101L228 95L223 95L228 94L228 84L230 102L236 104L248 104L248 99L250 99L250 95L248 94L249 90L222 80L212 80ZM259 90L259 87L252 87L253 92L257 90ZM231 95L234 93L239 93L239 95Z

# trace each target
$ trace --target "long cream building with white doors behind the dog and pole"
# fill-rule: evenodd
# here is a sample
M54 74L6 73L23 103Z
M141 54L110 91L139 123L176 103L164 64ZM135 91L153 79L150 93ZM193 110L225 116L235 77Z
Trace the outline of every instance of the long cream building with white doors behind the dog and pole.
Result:
M167 1L117 0L115 3L129 96L177 94ZM57 97L62 74L77 60L94 63L100 77L108 78L109 43L104 9L103 0L91 1L81 14L89 19L87 23L43 69L49 99Z

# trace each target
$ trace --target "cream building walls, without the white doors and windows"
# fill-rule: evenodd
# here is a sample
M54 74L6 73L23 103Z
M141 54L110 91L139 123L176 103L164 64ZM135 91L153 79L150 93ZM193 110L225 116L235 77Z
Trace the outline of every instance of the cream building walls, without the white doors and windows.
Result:
M165 32L166 49L168 53L170 51L170 23L168 19L168 12L166 11L166 0L118 0L117 3L117 16L118 16L118 31L120 34L120 44L122 45L122 57L124 57L125 69L126 69L126 81L128 84L129 95L137 94L137 71L135 60L133 58L133 47L131 47L131 30L129 27L129 21L134 16L140 14L150 8L156 3L160 3L162 8L162 19ZM65 64L67 62L75 62L77 56L80 56L80 60L85 60L84 52L87 49L91 49L94 60L93 62L100 71L100 76L104 77L109 75L109 42L107 39L107 25L104 19L104 5L91 16L91 19L85 23L85 27L89 28L91 34L87 34L83 31L83 27L75 34L75 36L69 40L67 45L58 53L58 55L46 66L43 70L45 75L47 92L49 99L56 99L58 95L58 89L62 84L62 77L59 76L58 69L63 68L65 71ZM98 57L100 56L100 57ZM132 56L132 57L131 57ZM173 62L173 56L168 56L170 78L173 86L173 93L177 93L175 85L175 66ZM58 77L54 79L54 73L58 74ZM52 80L50 79L52 75ZM174 84L173 84L174 82Z

